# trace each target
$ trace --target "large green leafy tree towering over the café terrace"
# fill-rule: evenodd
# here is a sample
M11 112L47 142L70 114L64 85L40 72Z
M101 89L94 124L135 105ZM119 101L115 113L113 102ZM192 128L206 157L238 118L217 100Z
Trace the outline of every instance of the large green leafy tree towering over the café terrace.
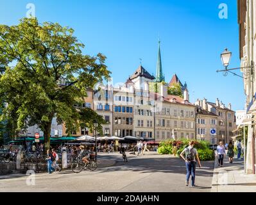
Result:
M87 88L108 79L106 57L82 54L84 45L74 30L58 23L21 19L16 26L0 25L0 101L8 102L1 119L12 120L16 131L37 126L50 145L51 122L81 123L80 104Z

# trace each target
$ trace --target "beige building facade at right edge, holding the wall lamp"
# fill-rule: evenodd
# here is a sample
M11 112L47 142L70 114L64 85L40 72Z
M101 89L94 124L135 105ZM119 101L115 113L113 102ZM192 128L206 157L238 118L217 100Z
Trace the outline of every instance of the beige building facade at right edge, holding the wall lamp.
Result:
M248 127L248 142L246 146L246 172L255 174L256 168L256 1L238 0L239 23L239 52L241 59L241 72L244 77L244 94L246 95L245 110L249 122L244 122Z

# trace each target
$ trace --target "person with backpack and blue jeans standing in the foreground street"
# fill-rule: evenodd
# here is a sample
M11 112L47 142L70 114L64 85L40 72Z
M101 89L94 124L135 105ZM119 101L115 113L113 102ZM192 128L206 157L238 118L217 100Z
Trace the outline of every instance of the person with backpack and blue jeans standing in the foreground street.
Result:
M185 154L185 156L184 156ZM187 168L187 176L185 185L189 186L189 178L191 177L191 186L195 187L194 181L196 179L196 160L198 161L199 167L201 167L201 163L198 157L198 151L194 148L194 140L189 142L189 147L183 149L182 153L180 153L180 157L185 161L185 165Z

